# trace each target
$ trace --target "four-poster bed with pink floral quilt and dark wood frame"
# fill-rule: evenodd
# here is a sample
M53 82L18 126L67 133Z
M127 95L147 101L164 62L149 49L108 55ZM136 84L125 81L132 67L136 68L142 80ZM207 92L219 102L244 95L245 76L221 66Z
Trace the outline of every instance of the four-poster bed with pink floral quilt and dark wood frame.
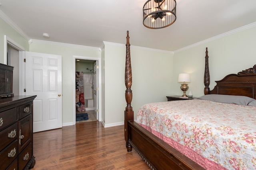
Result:
M124 137L127 151L136 150L153 170L256 169L256 65L242 70L238 74L225 76L222 80L216 81L217 85L213 90L210 90L208 50L206 48L205 96L202 96L202 99L182 102L158 102L144 105L138 111L137 119L134 120L134 111L131 106L132 70L129 38L129 32L127 31L125 66L125 98L127 105L124 111ZM224 98L220 98L220 96L224 96ZM231 102L225 103L226 101ZM184 106L189 107L183 109L182 113L178 113L178 110L181 109L175 106L175 103L178 102L180 102L179 105L182 108ZM247 106L248 104L252 106ZM195 105L201 107L198 108ZM215 109L217 107L219 109ZM193 122L188 122L188 119L185 119L187 116L184 116L184 118L182 115L186 112L190 113L191 109L195 109L196 112L188 118ZM150 113L146 110L149 110ZM221 113L216 113L214 110L221 111ZM154 115L154 111L158 112L158 115ZM169 117L167 119L167 111L171 112L169 117L174 117L178 121L174 122L175 120L169 119ZM200 117L202 113L206 112L211 114ZM231 112L236 115L234 119L230 117ZM182 122L182 119L185 119L184 121L187 124L183 122L178 125L178 122ZM161 120L164 120L165 125L156 123ZM244 121L248 122L245 123ZM200 127L199 124L196 124L198 122L204 122L204 133L202 133L202 129L197 128ZM222 122L222 125L218 126L217 124L217 127L208 127L208 124L212 125L216 122ZM235 124L235 127L232 127L232 124ZM149 125L153 126L149 127ZM226 127L224 127L225 125ZM192 129L189 129L189 126ZM240 126L243 126L243 128L240 128ZM174 127L181 129L181 135L166 131L166 129ZM162 132L164 132L164 135ZM186 138L191 135L190 132L194 132L192 133L194 142L190 142L190 139ZM242 137L237 136L239 134L242 134ZM222 141L216 142L213 141L215 139L205 139L207 136L221 138ZM235 141L236 139L237 141ZM182 143L177 141L182 141ZM202 149L195 149L198 147L198 143L201 146L205 145L206 149L203 150L210 148L211 152L205 154L202 153ZM223 147L223 144L226 144L225 147ZM226 152L220 154L222 151ZM231 155L228 155L228 153L231 153ZM221 156L218 157L218 155Z

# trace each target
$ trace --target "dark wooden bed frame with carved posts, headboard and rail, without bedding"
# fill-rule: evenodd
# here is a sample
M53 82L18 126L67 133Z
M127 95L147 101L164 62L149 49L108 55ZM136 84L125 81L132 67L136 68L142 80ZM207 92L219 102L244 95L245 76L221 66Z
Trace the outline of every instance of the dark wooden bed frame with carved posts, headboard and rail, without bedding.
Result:
M127 151L131 152L132 148L136 150L152 170L203 170L204 168L193 162L190 158L166 144L134 121L134 111L131 106L132 68L129 39L129 31L127 31L125 65L125 99L127 106L124 111L124 137ZM229 74L222 80L216 81L216 83L217 85L214 89L210 90L208 49L206 48L204 94L229 94L256 99L256 65L253 68L238 72L238 74Z

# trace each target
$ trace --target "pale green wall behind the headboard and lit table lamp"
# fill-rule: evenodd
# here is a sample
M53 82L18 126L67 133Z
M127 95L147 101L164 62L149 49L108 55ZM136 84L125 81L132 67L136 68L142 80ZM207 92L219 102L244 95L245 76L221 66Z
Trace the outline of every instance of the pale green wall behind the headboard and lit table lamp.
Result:
M228 74L251 68L256 64L256 27L246 29L198 46L174 53L173 57L173 94L181 95L179 73L190 73L189 91L194 97L204 95L205 50L208 47L210 90L214 81Z

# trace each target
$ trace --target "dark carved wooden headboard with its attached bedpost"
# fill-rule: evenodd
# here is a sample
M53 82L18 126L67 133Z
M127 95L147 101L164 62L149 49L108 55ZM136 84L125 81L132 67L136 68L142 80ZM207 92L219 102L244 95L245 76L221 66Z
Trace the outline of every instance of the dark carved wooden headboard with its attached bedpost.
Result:
M215 81L217 85L210 90L210 74L208 67L208 49L206 47L204 94L227 94L236 96L248 96L256 99L256 65L242 70L237 74L228 74L222 80Z

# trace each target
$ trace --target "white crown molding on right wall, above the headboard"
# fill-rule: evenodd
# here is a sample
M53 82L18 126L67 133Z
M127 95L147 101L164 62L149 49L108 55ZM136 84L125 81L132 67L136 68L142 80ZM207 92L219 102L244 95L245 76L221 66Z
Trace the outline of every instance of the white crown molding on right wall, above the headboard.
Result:
M216 39L220 39L220 38L222 38L222 37L226 37L226 36L228 36L228 35L232 35L232 34L234 34L234 33L238 33L238 32L240 32L240 31L244 31L244 30L246 30L246 29L250 29L250 28L253 28L253 27L256 27L256 22L253 22L253 23L250 23L250 24L248 24L248 25L244 25L244 26L242 26L242 27L233 29L233 30L228 31L228 32L226 32L226 33L222 33L222 34L217 35L217 36L215 36L215 37L211 37L211 38L205 39L205 40L200 41L200 42L198 42L198 43L194 43L194 44L192 44L192 45L188 45L188 46L186 46L186 47L184 47L184 48L175 50L174 53L177 53L177 52L180 52L180 51L184 51L184 50L186 50L186 49L190 49L190 48L192 48L192 47L196 47L196 46L198 46L198 45L202 45L202 44L204 44L204 43L208 43L208 42L210 42L210 41L214 41L214 40L216 40Z

